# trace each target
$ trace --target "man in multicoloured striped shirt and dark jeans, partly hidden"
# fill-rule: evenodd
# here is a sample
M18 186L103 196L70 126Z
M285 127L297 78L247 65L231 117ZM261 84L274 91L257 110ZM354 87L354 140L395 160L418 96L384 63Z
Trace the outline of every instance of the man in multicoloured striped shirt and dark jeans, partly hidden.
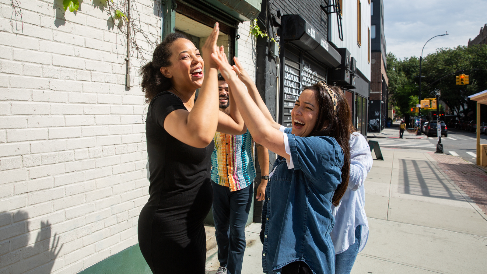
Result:
M229 114L228 84L218 75L220 110ZM245 251L245 224L252 204L256 176L254 142L247 132L243 135L215 134L211 155L213 186L213 219L220 267L217 274L240 274ZM256 145L262 180L258 192L264 192L269 173L269 154Z

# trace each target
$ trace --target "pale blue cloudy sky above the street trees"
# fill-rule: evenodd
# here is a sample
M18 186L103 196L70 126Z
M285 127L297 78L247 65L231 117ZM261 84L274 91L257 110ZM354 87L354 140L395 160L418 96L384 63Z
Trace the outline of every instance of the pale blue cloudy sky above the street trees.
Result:
M467 45L487 23L487 0L383 0L387 52L403 59Z

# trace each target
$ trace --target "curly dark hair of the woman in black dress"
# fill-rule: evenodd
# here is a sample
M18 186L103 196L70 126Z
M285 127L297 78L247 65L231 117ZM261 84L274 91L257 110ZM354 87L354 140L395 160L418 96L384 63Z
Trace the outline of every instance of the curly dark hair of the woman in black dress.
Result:
M179 38L187 39L182 33L169 33L164 40L154 50L152 61L145 64L140 69L142 82L140 86L146 95L146 103L149 103L158 93L168 90L171 87L171 81L161 73L161 67L171 65L169 60L172 56L171 45Z

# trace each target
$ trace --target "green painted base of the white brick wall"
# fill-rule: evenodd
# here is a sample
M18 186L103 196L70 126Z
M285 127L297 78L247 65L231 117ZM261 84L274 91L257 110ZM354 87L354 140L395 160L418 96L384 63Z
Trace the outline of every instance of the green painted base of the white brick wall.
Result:
M114 254L78 274L152 274L139 244Z

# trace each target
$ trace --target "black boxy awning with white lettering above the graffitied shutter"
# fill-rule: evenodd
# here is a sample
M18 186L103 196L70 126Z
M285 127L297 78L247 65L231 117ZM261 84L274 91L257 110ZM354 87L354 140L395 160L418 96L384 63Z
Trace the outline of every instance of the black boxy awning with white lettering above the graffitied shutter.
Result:
M281 39L306 51L317 61L336 68L341 56L321 34L300 15L284 15L281 18Z

